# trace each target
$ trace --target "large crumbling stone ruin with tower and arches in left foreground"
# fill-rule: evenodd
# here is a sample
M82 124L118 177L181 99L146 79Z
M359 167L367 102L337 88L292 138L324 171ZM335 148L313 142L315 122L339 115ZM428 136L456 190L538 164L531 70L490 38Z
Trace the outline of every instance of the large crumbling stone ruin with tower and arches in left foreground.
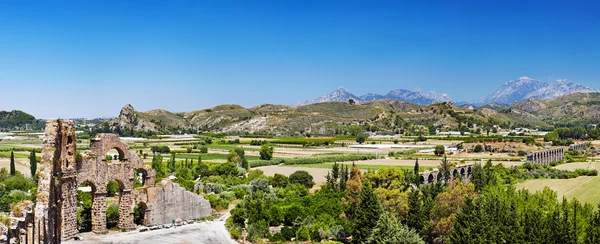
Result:
M135 228L133 209L141 203L146 226L173 220L197 219L212 213L210 203L168 179L155 185L154 171L130 151L116 134L99 134L90 150L77 158L72 121L50 120L46 124L39 166L37 202L32 211L12 226L10 238L18 243L61 243L73 239L77 229L77 189L92 188L92 231L106 233L107 184L119 184L119 224L122 230ZM116 149L118 160L105 155ZM143 187L134 189L134 174L142 172ZM30 205L33 205L30 203Z

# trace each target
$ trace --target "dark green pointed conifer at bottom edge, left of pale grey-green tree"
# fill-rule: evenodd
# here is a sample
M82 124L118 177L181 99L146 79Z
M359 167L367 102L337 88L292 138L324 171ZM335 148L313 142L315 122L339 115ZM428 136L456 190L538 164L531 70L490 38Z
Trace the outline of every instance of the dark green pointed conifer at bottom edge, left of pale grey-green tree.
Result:
M377 195L369 183L363 182L359 196L360 202L353 218L354 234L352 237L354 243L361 243L371 235L371 231L377 226L383 212Z

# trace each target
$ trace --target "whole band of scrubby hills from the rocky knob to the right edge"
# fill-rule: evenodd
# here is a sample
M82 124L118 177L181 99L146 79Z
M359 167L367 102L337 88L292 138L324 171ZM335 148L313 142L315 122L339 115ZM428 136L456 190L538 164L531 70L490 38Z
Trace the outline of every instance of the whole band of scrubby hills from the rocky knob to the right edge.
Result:
M414 125L426 126L430 131L464 131L464 128L475 127L486 130L491 125L551 129L557 124L581 124L598 118L600 96L578 93L551 101L530 99L497 110L491 107L469 109L449 102L419 105L394 100L364 104L326 102L299 107L263 104L244 108L225 104L179 113L166 110L140 112L126 105L119 117L107 126L116 131L152 133L204 131L331 136L355 134L356 127L380 133L398 133L414 128Z

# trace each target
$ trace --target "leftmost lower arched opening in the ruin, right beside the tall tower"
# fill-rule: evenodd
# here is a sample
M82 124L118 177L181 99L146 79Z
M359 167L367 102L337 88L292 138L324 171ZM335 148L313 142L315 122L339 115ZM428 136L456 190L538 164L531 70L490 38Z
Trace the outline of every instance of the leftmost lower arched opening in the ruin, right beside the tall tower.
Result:
M92 231L92 204L96 186L91 182L79 184L77 188L77 229L79 232Z

